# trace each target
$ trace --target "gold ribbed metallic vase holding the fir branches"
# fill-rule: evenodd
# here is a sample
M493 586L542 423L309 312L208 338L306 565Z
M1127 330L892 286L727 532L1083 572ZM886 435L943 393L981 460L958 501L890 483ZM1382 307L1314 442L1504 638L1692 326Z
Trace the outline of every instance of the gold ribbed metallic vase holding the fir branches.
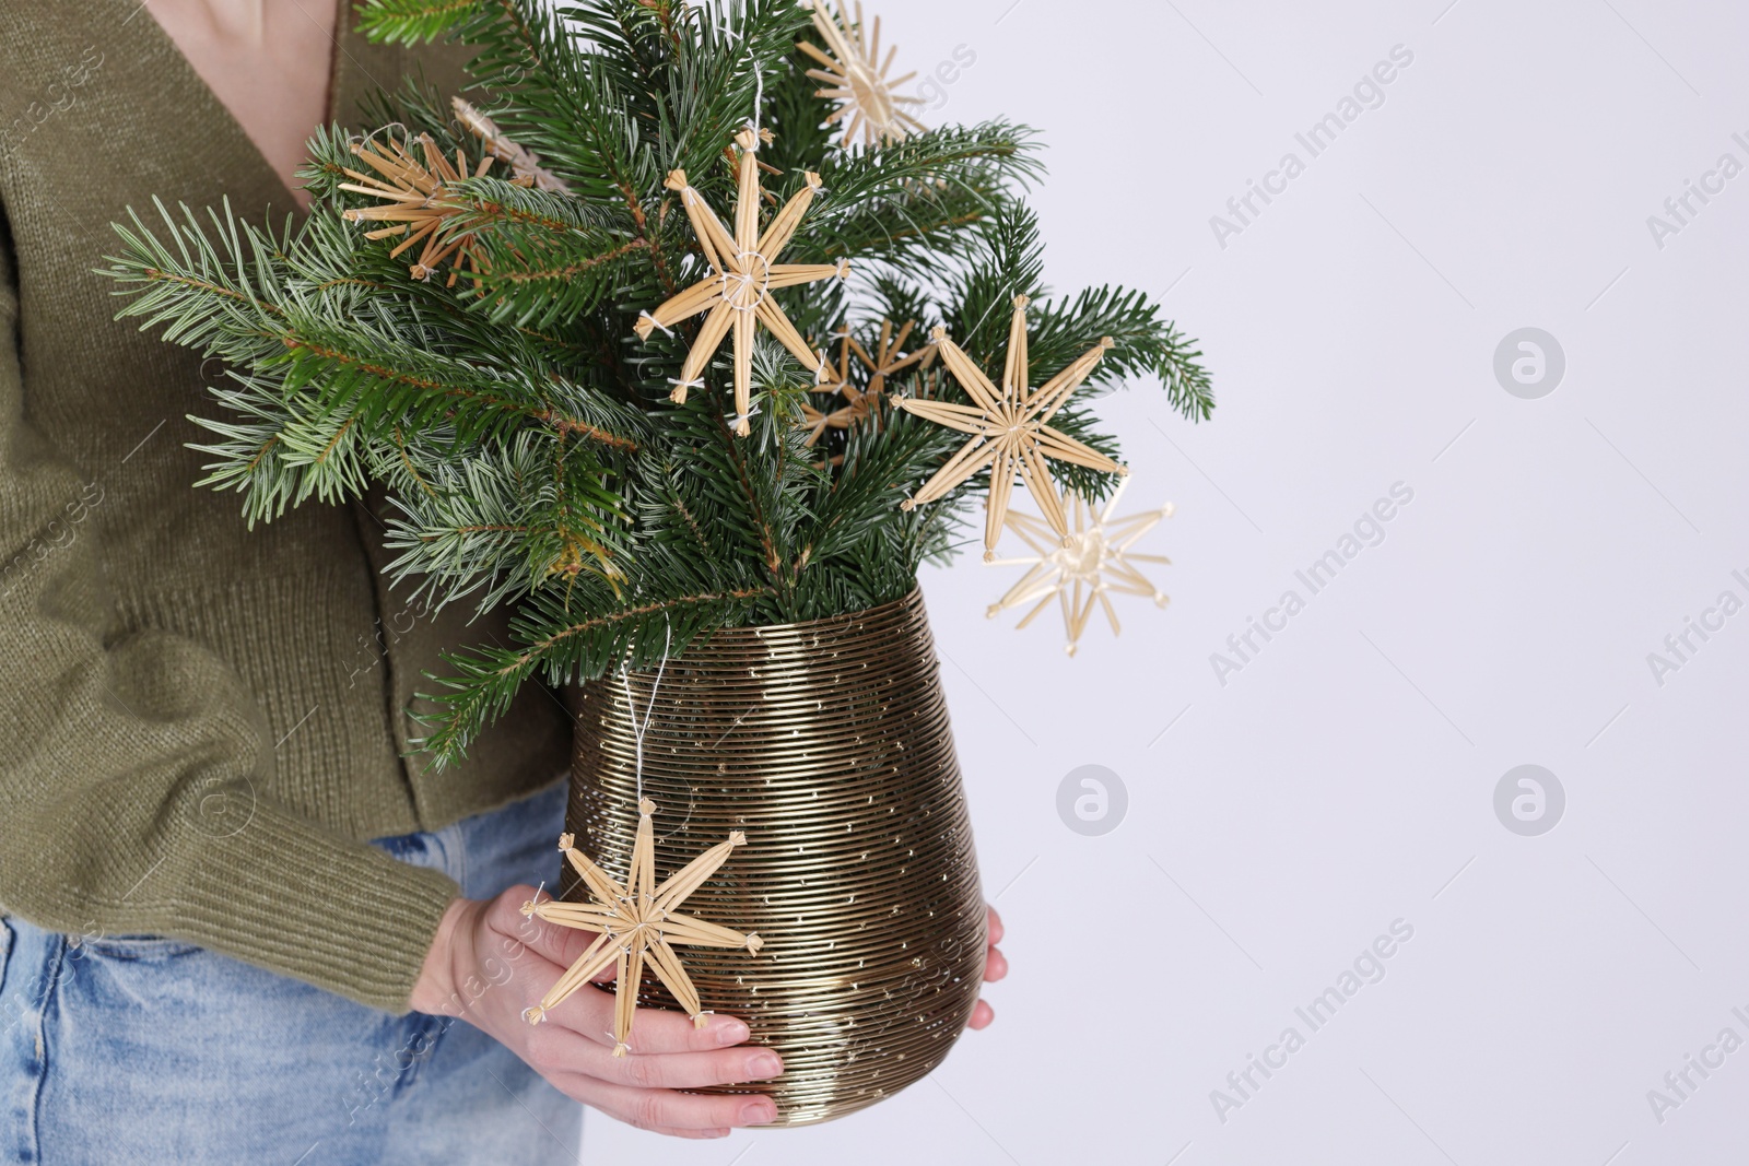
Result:
M777 1124L806 1126L941 1063L978 1002L986 932L922 593L719 631L659 689L656 670L612 675L574 703L568 829L610 874L628 874L645 717L658 879L747 832L686 911L764 946L680 954L705 1007L743 1017L784 1075L719 1093L768 1093ZM638 998L675 1007L651 974Z

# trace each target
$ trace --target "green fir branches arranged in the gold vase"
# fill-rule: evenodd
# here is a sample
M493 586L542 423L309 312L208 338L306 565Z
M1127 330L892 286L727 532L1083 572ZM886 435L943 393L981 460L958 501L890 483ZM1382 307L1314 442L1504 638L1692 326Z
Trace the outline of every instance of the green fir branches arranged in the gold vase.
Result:
M1000 374L1014 295L1030 308L1041 381L1104 336L1088 385L1053 420L1102 453L1086 400L1158 379L1179 413L1214 407L1188 341L1144 292L1049 295L1034 215L1042 178L1025 126L943 126L876 149L843 147L833 107L796 51L812 35L794 0L367 0L381 40L456 38L477 49L469 100L539 156L568 192L532 189L493 164L446 187L442 238L472 238L477 276L415 278L415 253L341 217L378 199L339 189L362 163L338 128L310 143L315 212L248 224L229 206L154 206L119 224L108 274L122 315L220 358L201 482L236 491L250 523L308 500L394 507L392 572L432 605L514 605L514 642L448 657L422 703L437 764L525 682L574 684L682 652L714 629L854 612L904 596L944 559L988 488L983 474L915 512L915 493L964 435L876 406L869 421L810 444L805 411L841 397L770 337L754 360L752 434L735 437L729 346L686 404L668 400L698 318L642 341L654 309L707 273L672 170L722 215L735 205L733 135L757 117L775 205L805 171L826 184L785 260L852 260L848 281L773 292L810 344L848 329L874 351L881 322L913 323L909 350L944 325ZM416 79L367 110L373 138L430 135L469 173L483 145L448 98ZM756 110L756 100L759 107ZM416 147L415 147L416 149ZM850 362L854 388L869 369ZM939 362L887 378L888 395L965 402ZM1065 489L1104 496L1104 474L1056 463Z

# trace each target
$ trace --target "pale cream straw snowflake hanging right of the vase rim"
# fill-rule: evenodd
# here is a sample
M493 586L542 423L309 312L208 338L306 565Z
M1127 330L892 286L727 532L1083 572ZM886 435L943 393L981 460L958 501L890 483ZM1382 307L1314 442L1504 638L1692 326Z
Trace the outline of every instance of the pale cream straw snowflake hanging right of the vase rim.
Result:
M1037 600L1037 605L1014 624L1014 629L1020 631L1051 600L1056 600L1063 612L1063 631L1069 636L1063 650L1074 656L1095 605L1104 608L1105 619L1111 622L1111 633L1114 636L1121 635L1118 612L1111 605L1112 594L1146 596L1154 601L1154 607L1170 603L1170 596L1149 582L1137 568L1137 563L1163 563L1170 566L1172 559L1163 554L1137 554L1132 547L1147 531L1154 530L1154 526L1172 517L1174 507L1168 502L1158 510L1112 517L1128 486L1128 481L1119 482L1111 500L1098 510L1079 495L1074 496L1070 502L1069 538L1056 538L1048 524L1030 514L1009 510L1007 528L1020 535L1020 540L1034 554L995 559L992 563L992 566L1025 566L1027 573L1009 587L1007 594L990 605L986 612L990 619Z

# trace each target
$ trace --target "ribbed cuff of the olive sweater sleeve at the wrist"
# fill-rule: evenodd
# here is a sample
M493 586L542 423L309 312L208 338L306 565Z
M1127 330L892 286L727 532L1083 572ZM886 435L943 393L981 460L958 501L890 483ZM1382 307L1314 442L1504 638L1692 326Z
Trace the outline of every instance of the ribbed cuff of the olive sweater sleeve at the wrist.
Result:
M178 914L213 951L402 1014L458 895L441 871L255 804L241 830L201 846Z

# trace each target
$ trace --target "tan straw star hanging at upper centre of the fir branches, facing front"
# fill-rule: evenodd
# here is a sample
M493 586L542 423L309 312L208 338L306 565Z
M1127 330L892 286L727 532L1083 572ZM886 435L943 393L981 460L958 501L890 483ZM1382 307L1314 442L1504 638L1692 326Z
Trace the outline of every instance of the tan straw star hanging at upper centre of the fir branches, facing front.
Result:
M672 399L675 404L686 402L689 388L703 388L703 372L717 346L733 329L735 332L735 432L745 437L752 432L749 409L752 402L752 360L757 325L764 325L771 336L787 348L801 365L815 378L829 374L820 353L808 348L808 343L791 323L784 309L771 299L771 292L780 287L799 287L819 280L843 278L850 273L850 260L840 259L836 264L780 264L777 262L784 248L801 226L803 215L820 192L820 175L808 173L806 185L777 213L771 224L759 233L759 135L742 129L735 135L740 145L740 189L735 203L735 233L731 234L717 219L703 196L694 191L684 170L668 175L666 187L680 194L687 219L693 220L693 233L710 264L710 274L672 297L656 311L638 316L637 334L649 339L656 329L668 330L687 316L705 315L705 322L687 351L680 378L673 383Z

